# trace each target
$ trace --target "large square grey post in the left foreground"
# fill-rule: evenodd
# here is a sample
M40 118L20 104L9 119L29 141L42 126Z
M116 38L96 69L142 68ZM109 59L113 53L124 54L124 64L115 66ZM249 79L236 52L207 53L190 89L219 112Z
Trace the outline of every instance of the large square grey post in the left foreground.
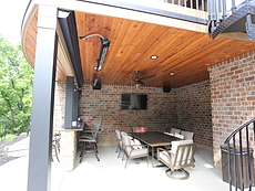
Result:
M58 35L54 7L39 6L28 191L49 191Z

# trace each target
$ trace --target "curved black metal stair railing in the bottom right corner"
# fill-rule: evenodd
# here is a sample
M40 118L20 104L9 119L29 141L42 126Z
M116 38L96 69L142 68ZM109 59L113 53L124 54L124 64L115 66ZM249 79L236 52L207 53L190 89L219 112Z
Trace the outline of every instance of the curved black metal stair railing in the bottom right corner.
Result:
M255 184L253 149L255 147L255 119L244 124L225 140L222 151L226 152L227 182L244 191ZM223 156L222 156L223 157ZM222 163L224 166L224 163ZM224 167L223 167L224 168ZM224 172L223 172L224 173Z

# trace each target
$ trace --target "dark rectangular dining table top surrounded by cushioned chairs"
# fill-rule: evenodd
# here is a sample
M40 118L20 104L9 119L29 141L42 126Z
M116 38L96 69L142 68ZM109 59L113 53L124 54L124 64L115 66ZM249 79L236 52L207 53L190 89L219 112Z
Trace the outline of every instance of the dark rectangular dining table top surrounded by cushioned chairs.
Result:
M160 131L130 132L129 135L151 147L167 146L171 145L173 140L181 140L177 137L169 136Z

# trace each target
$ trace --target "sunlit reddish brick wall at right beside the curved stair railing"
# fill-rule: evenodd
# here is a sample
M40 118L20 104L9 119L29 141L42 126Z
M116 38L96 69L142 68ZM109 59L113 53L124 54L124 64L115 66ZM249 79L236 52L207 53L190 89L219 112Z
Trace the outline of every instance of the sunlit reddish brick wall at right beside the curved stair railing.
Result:
M212 97L214 162L221 167L220 147L255 114L254 52L208 68Z

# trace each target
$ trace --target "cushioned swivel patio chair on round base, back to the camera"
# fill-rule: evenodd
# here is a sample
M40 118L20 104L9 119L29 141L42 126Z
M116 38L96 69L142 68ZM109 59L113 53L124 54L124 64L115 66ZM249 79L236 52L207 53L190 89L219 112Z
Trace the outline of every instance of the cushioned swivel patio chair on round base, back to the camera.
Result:
M165 171L167 177L177 180L188 179L190 173L184 168L195 167L195 147L193 140L178 140L172 141L171 150L157 148L157 160L169 167ZM181 171L181 176L176 176L176 171Z

